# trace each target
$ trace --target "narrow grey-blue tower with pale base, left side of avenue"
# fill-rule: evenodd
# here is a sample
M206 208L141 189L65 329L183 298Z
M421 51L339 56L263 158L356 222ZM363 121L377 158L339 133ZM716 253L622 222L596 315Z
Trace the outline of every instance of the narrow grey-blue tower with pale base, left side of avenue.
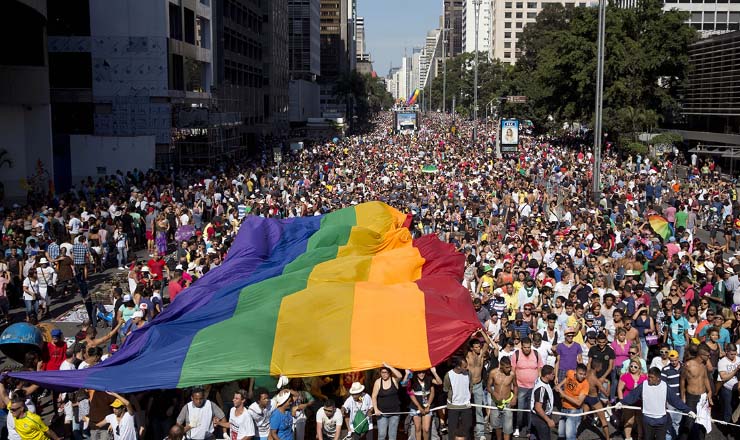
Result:
M321 116L320 0L288 0L289 120L306 122Z

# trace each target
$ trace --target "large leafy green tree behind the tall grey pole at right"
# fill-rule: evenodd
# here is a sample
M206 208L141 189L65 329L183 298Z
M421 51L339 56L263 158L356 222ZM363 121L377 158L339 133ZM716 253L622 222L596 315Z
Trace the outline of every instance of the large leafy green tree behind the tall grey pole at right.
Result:
M662 7L660 0L644 0L636 8L607 9L606 130L635 133L677 112L696 31L685 24L686 13ZM546 4L524 29L510 90L528 96L535 122L592 120L597 25L597 8Z

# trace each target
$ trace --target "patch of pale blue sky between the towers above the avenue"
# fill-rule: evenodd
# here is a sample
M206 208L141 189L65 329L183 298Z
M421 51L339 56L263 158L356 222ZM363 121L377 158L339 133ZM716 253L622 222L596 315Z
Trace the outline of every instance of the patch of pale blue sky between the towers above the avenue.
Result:
M365 17L367 51L378 76L390 63L401 64L404 47L424 46L427 32L439 27L442 0L357 0L357 15Z

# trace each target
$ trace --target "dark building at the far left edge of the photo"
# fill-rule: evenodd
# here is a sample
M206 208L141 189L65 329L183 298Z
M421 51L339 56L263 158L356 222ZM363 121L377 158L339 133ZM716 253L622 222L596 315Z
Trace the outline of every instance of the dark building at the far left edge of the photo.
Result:
M28 200L21 182L37 197L45 196L55 167L46 2L11 0L3 3L3 11L8 20L0 28L7 43L0 53L0 204L8 206Z

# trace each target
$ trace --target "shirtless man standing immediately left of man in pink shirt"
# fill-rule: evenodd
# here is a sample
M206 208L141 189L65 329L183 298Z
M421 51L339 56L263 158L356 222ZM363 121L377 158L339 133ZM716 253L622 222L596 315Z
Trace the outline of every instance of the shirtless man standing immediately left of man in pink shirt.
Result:
M504 408L516 408L519 389L516 373L511 369L511 358L503 357L498 368L488 374L488 393L491 395L491 427L496 430L496 439L509 440L514 432L514 412ZM608 440L608 439L607 439Z

